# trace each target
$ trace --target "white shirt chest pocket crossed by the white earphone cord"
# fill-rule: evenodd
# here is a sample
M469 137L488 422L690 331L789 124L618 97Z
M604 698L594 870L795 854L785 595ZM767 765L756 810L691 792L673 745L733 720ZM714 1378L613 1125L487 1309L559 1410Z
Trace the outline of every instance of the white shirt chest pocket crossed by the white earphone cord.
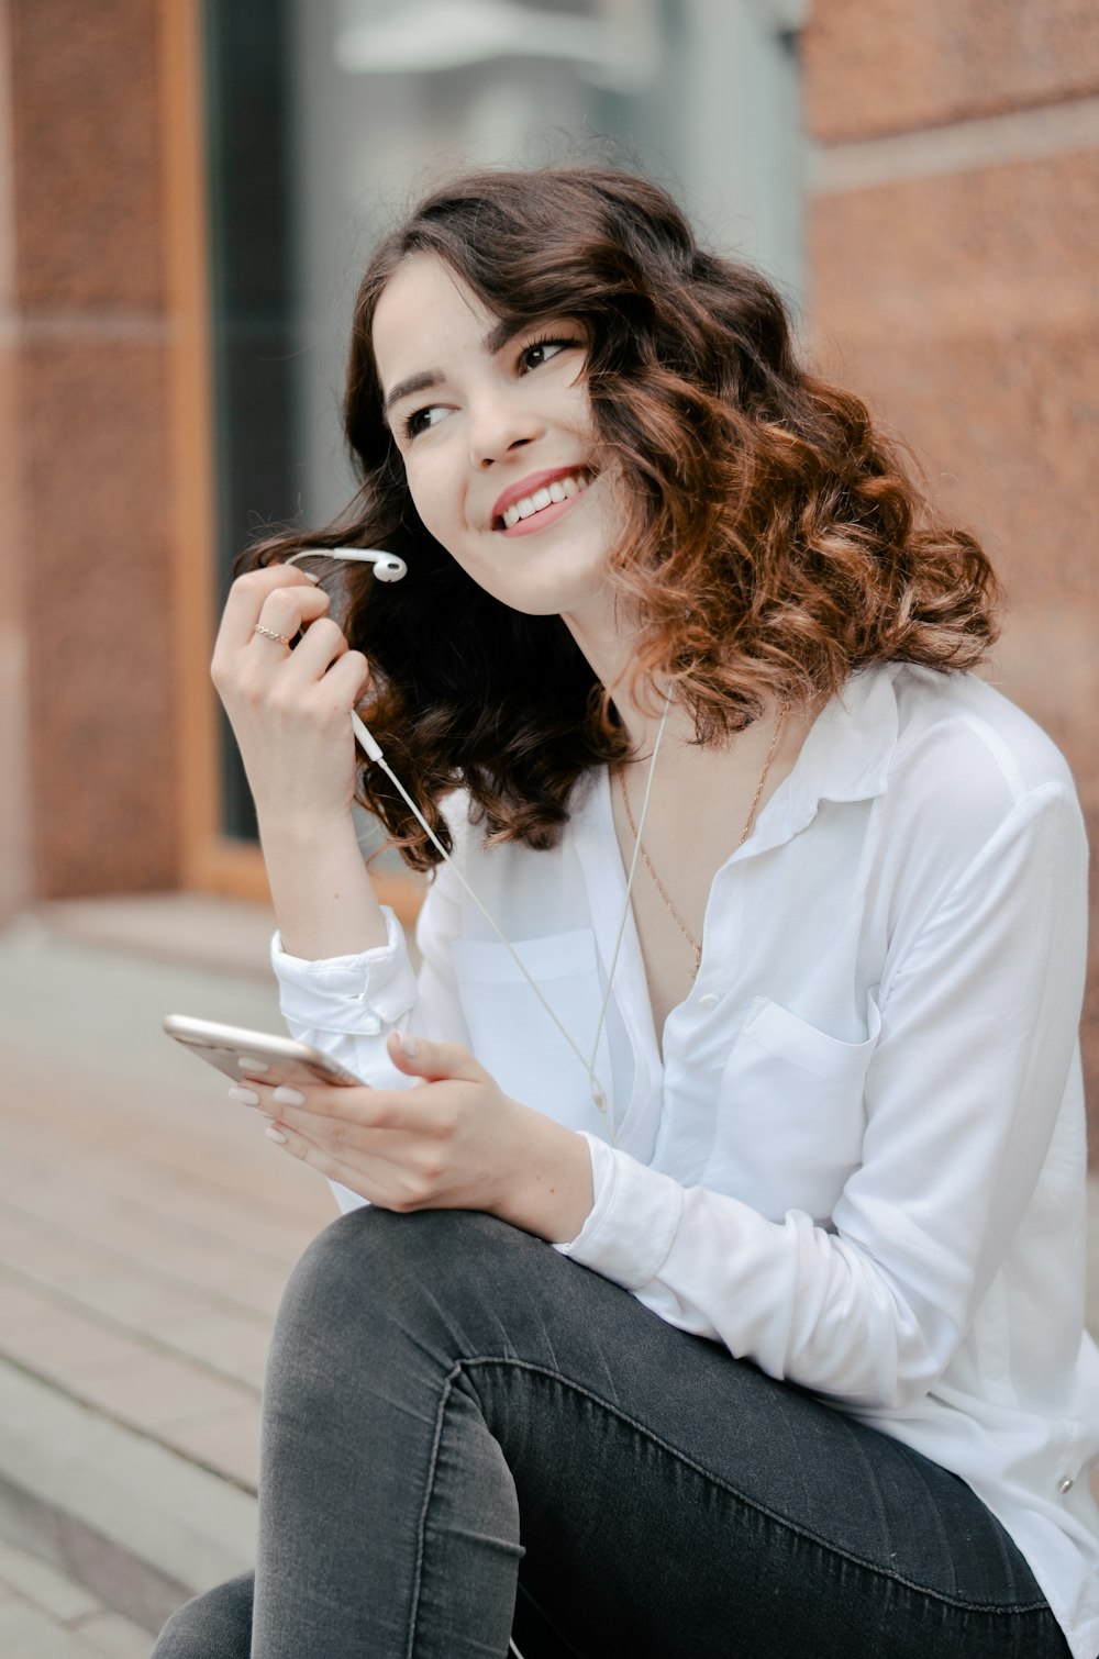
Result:
M604 1135L584 1063L505 946L466 939L455 941L452 949L470 1048L505 1095L569 1128ZM603 1005L591 929L521 939L511 949L579 1052L589 1055ZM609 1087L606 1037L599 1042L596 1073Z

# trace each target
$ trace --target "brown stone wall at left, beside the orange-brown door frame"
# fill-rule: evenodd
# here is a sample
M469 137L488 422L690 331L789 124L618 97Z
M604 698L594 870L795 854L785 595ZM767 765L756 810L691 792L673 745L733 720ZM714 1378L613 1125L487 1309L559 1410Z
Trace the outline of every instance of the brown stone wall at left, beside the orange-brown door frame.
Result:
M27 884L45 898L178 874L158 12L3 7L3 574L22 571Z

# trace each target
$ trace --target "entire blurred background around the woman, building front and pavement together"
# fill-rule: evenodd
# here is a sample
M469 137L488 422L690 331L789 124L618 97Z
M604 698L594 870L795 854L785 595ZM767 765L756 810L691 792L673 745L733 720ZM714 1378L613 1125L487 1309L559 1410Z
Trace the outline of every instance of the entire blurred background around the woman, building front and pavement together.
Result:
M601 158L759 262L911 443L1008 586L991 677L1099 821L1094 0L0 0L0 1538L91 1586L20 1614L73 1656L246 1559L267 1319L329 1214L136 1035L184 995L277 1020L206 672L232 557L349 493L350 299L407 201ZM1084 1045L1096 1158L1096 974ZM110 1515L50 1460L95 1438L70 1407L106 1433L90 1493L141 1472ZM0 1551L20 1652L3 1584Z

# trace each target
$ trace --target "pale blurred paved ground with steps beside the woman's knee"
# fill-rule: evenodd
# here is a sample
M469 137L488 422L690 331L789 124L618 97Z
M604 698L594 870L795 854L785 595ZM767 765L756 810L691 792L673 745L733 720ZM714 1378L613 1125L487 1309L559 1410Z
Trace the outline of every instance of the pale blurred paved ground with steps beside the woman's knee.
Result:
M334 1208L159 1027L281 1029L267 932L176 898L0 936L5 1659L136 1659L251 1564L271 1317ZM1099 1331L1099 1188L1092 1223Z

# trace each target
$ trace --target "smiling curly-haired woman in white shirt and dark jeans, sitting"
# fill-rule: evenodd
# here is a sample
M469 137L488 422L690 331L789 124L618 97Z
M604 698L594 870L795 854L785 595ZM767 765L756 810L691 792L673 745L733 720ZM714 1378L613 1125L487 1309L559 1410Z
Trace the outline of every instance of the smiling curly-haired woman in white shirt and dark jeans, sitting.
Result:
M1094 1659L1086 848L960 672L981 549L611 171L422 202L347 435L214 679L284 1012L369 1085L237 1095L352 1213L276 1329L254 1611L158 1656ZM340 629L279 566L345 544L408 576ZM364 768L437 873L418 982L355 707L437 838Z

